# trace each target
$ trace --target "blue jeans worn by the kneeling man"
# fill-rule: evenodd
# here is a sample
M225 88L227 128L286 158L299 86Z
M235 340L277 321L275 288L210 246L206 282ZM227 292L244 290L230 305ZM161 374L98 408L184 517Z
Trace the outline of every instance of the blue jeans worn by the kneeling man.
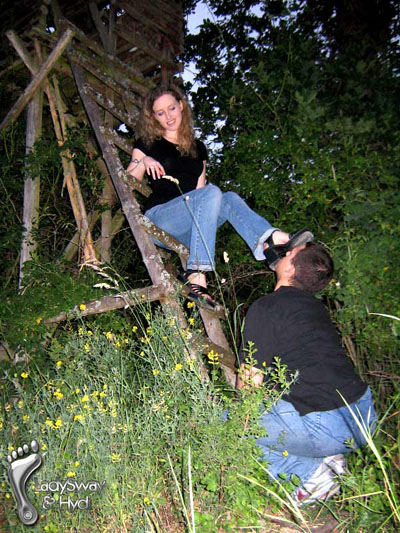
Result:
M368 387L363 396L350 404L353 413L371 430L376 412ZM259 421L267 435L257 439L262 457L274 477L283 473L298 476L305 483L329 455L349 453L365 444L365 440L347 407L317 411L300 416L293 405L279 400ZM348 441L353 440L353 448ZM346 443L347 441L347 443ZM283 453L284 452L284 453ZM286 453L288 452L288 453Z

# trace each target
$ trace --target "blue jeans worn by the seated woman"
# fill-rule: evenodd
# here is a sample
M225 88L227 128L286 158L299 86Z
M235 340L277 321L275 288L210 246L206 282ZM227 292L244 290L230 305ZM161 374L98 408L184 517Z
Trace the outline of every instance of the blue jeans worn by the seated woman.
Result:
M156 205L145 215L189 248L187 268L191 270L215 270L216 233L226 221L232 224L258 261L264 259L263 243L277 229L250 209L236 193L223 193L211 184ZM156 239L154 242L163 246Z

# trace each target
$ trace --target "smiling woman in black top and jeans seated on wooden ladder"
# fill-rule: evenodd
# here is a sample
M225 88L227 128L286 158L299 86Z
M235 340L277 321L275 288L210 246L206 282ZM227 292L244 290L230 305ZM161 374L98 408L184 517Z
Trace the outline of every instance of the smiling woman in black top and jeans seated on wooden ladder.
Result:
M174 85L147 94L139 124L140 138L127 172L139 180L148 175L153 192L145 215L189 248L182 277L189 298L207 307L216 306L207 292L205 272L215 268L216 232L226 221L254 257L267 259L272 270L288 250L313 239L307 230L289 236L252 211L236 193L222 193L215 185L207 185L207 150L195 139L189 104Z

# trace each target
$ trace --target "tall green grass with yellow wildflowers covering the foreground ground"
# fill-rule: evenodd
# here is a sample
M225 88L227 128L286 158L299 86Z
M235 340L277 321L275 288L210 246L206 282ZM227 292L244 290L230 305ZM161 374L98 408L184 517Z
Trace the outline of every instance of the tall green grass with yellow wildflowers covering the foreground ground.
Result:
M190 307L188 313L195 330L196 311ZM208 361L211 379L202 380L187 345L193 331L180 329L157 307L141 304L108 320L71 322L51 339L45 356L29 364L2 363L4 467L7 454L32 439L39 441L43 458L32 476L35 483L28 483L40 510L33 527L19 522L3 469L5 527L13 532L272 531L270 520L278 516L281 523L310 531L315 509L299 511L290 498L293 485L270 480L251 438L261 431L260 403L266 397L276 401L276 383L285 384L279 361L269 387L256 394L245 388L237 395L223 382L215 354ZM398 400L393 399L394 412ZM323 508L337 518L338 531L398 526L397 452L382 429L367 435L367 442L353 454L342 496ZM60 509L59 490L38 490L55 480L105 484L101 492L71 492L75 504L87 497L91 502L90 509L71 512L66 505Z

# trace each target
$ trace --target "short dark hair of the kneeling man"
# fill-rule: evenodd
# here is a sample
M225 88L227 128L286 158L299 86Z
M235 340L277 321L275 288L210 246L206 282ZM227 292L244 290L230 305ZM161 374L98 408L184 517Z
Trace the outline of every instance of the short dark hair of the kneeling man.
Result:
M291 285L315 294L328 285L333 276L333 260L322 244L308 242L292 259L295 272Z

